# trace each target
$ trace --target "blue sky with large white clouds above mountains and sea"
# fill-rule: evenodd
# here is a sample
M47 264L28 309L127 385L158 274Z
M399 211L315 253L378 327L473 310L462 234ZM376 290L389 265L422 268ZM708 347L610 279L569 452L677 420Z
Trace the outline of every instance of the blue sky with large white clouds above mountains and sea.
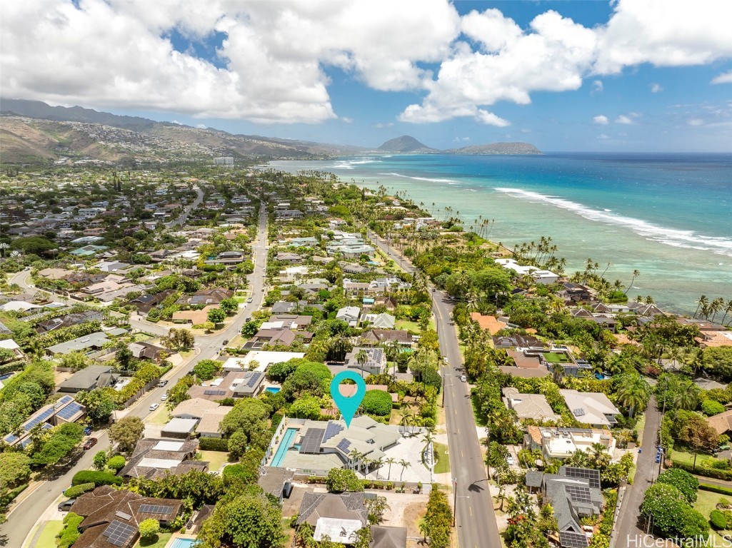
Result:
M732 151L730 0L0 0L0 95L376 147Z

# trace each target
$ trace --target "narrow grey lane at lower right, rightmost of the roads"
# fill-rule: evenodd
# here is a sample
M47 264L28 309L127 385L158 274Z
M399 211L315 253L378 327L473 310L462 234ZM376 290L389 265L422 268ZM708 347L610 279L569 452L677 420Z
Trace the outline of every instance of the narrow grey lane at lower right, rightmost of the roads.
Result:
M661 413L656 407L656 398L651 396L646 410L646 425L643 427L642 452L635 463L635 478L633 484L625 489L623 505L616 523L615 543L610 548L624 548L626 546L641 546L645 520L641 519L641 503L643 494L658 477L656 461L656 447L658 445L658 429L661 425ZM635 539L635 540L632 540ZM640 544L639 544L640 543Z

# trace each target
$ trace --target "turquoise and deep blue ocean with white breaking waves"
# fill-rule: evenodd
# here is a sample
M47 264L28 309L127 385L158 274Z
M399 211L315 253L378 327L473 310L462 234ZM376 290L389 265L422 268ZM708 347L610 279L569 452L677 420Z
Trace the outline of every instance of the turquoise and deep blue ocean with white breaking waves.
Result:
M638 269L628 296L651 295L673 312L692 314L701 295L732 299L732 154L386 154L269 165L406 191L435 217L459 211L466 228L494 219L489 238L509 248L551 236L567 274L591 258L601 271L612 263L605 277L627 285Z

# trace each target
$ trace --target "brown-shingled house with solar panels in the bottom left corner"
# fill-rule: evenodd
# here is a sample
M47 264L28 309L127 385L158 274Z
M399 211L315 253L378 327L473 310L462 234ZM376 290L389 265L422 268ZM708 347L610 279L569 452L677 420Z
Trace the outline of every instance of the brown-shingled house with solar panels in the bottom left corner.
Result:
M182 500L143 497L108 485L77 498L71 511L84 519L75 548L130 548L140 536L145 519L157 519L168 527L181 514Z

